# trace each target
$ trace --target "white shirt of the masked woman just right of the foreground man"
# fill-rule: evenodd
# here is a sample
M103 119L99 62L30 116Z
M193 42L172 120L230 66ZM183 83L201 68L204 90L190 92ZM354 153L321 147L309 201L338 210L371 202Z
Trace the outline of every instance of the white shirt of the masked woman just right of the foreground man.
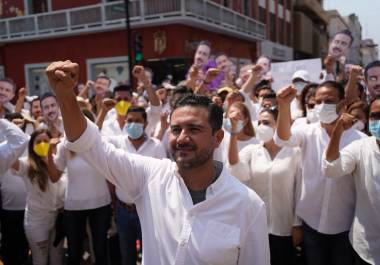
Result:
M243 148L239 162L229 165L231 174L265 202L270 234L290 236L293 226L301 225L295 215L300 159L298 148L283 147L272 160L263 144L256 144Z

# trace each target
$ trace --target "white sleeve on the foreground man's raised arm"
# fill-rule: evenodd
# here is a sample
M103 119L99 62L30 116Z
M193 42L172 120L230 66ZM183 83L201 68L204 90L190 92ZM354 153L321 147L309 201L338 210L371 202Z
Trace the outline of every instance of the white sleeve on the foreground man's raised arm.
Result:
M87 128L75 142L65 140L69 150L82 157L112 184L125 192L134 202L141 194L147 178L159 167L160 160L127 153L116 148L100 135L95 124L87 121Z

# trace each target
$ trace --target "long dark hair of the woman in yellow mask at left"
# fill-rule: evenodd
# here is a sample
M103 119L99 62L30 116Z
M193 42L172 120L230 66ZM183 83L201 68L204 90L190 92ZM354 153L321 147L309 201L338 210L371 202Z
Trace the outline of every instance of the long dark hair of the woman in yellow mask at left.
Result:
M46 133L51 139L51 133L47 129L38 129L32 133L28 145L28 178L30 182L36 182L42 191L46 191L49 173L46 163L33 150L33 143L37 136Z

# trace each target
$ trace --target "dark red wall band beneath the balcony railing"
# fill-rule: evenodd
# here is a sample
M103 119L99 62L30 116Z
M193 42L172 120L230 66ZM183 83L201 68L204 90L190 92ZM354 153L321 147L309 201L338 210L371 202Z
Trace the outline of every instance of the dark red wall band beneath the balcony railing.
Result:
M154 51L153 34L165 31L167 47L162 54ZM218 33L211 33L182 25L139 29L143 37L144 59L192 58L196 42L209 40L212 50L225 52L232 57L255 59L255 42L239 40ZM193 45L189 45L192 43ZM86 59L127 55L125 31L112 31L65 38L43 39L10 43L2 47L2 63L5 74L18 86L25 84L24 65L70 59L81 67L80 79L85 82Z

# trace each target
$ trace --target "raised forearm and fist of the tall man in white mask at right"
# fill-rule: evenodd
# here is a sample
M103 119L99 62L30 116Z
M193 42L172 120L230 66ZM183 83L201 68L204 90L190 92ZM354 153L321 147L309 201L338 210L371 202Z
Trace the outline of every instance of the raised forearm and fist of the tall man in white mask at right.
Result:
M296 94L297 89L293 86L284 87L277 92L277 135L283 141L289 140L291 136L290 103L295 98Z

